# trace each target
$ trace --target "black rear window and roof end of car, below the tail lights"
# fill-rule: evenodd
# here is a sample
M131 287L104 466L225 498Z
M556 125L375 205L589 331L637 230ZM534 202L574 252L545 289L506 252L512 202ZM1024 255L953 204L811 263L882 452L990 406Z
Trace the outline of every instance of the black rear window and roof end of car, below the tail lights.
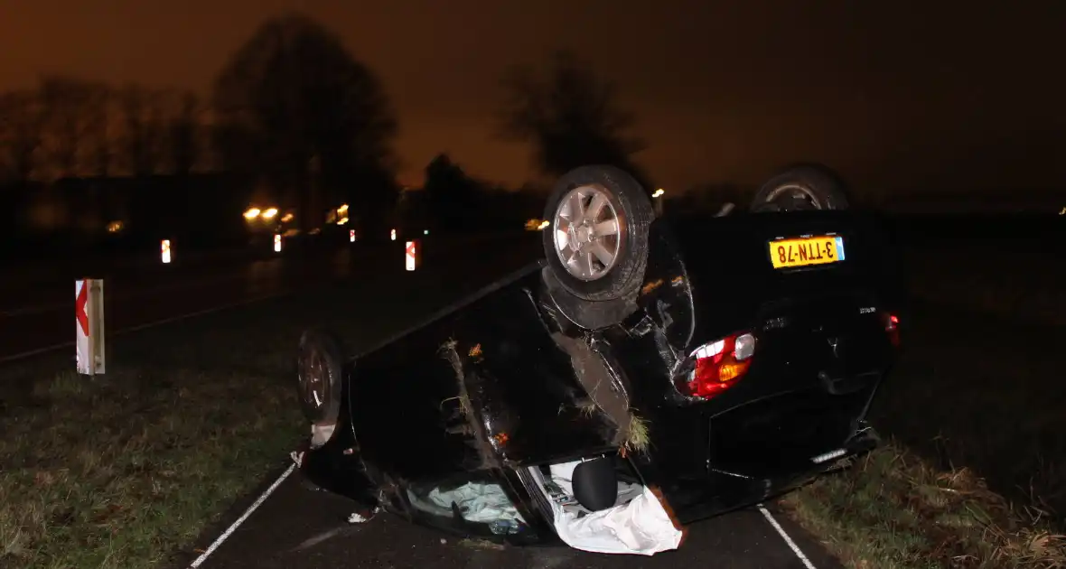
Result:
M673 408L661 416L666 428L651 455L635 466L683 523L758 503L876 446L865 418L881 377L850 378L844 393L818 385L717 413L711 405Z

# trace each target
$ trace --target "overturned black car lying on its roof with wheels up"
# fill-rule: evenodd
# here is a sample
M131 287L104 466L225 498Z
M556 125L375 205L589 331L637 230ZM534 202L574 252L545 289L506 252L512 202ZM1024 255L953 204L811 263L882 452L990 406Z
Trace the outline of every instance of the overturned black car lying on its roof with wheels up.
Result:
M890 232L812 166L722 213L656 218L625 172L577 168L539 262L359 356L308 330L302 472L468 536L652 554L873 448Z

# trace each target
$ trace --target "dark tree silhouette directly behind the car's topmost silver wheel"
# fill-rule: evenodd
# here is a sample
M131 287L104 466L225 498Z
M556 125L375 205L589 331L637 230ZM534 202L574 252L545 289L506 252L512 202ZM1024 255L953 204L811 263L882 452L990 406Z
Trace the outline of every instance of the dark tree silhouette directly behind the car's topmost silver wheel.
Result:
M558 177L586 164L611 164L644 181L630 158L644 148L627 134L633 115L618 107L615 86L571 52L555 52L546 72L513 67L503 84L507 99L500 134L532 143L543 174Z

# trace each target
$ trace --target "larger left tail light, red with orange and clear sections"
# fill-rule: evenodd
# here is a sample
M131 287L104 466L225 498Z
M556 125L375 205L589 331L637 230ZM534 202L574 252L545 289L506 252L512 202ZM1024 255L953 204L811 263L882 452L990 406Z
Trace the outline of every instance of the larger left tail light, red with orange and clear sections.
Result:
M690 395L711 399L729 389L747 373L755 354L755 336L748 332L727 336L697 347L690 357L695 367L685 387Z

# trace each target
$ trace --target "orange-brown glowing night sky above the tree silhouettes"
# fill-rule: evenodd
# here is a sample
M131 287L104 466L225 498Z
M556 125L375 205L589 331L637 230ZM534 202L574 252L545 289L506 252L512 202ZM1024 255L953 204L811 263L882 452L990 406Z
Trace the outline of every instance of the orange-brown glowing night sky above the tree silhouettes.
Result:
M298 9L382 78L413 183L438 151L528 179L528 149L492 137L499 79L565 47L617 83L667 191L796 160L878 190L1066 185L1066 2L721 4L3 0L0 88L66 72L206 92L262 19Z

